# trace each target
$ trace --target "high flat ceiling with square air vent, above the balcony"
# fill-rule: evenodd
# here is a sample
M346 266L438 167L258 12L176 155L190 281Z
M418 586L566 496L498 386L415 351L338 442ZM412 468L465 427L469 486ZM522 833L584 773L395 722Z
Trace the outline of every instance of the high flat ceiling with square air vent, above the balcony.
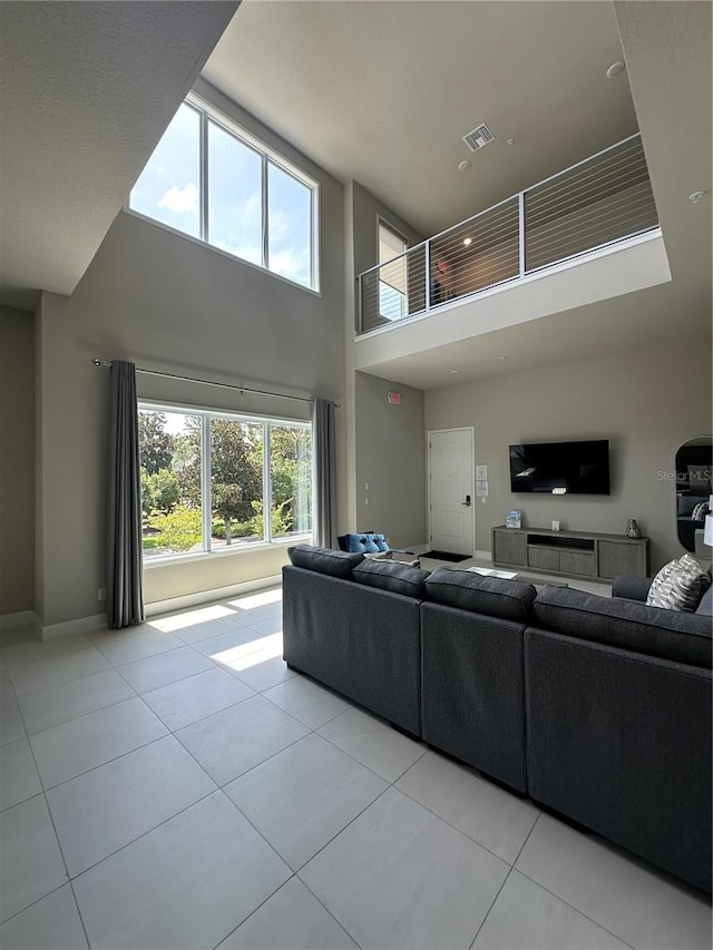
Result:
M636 131L622 59L599 0L245 0L203 76L428 235Z

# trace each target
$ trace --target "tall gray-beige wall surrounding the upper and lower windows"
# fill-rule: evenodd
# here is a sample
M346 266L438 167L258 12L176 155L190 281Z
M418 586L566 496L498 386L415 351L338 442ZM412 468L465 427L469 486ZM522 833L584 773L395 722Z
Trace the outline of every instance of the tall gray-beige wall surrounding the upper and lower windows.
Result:
M201 91L206 90L203 85ZM94 356L293 395L342 398L342 187L219 94L211 98L320 183L322 290L305 291L121 213L72 296L42 294L38 575L43 596L37 608L45 624L91 616L102 607L97 588L106 586L109 374L91 365ZM226 390L167 386L146 376L139 376L139 394L304 418L304 403L250 401ZM274 575L284 559L284 547L275 547L150 567L146 599Z

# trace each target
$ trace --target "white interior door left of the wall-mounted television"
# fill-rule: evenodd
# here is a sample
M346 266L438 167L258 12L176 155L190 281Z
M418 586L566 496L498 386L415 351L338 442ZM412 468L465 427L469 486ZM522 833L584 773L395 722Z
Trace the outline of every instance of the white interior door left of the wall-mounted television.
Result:
M475 456L472 429L428 433L429 535L431 548L475 552Z

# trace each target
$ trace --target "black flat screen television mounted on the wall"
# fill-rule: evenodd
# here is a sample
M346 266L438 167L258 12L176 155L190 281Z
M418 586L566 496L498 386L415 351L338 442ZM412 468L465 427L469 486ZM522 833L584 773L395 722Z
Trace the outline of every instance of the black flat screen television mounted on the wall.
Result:
M540 494L608 494L608 439L510 445L510 488Z

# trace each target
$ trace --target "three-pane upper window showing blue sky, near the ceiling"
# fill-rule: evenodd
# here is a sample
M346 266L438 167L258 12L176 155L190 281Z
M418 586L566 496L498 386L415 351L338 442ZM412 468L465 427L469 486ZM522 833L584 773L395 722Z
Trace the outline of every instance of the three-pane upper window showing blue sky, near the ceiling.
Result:
M318 186L207 106L180 106L131 210L318 288Z

